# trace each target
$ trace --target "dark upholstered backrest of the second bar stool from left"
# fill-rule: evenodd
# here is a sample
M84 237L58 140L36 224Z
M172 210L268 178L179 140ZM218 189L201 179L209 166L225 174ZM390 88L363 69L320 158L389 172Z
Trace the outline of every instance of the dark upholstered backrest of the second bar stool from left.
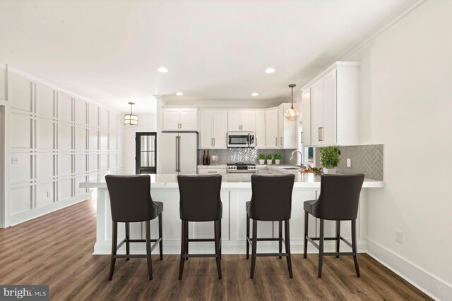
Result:
M183 221L217 221L222 218L221 178L221 175L177 176Z

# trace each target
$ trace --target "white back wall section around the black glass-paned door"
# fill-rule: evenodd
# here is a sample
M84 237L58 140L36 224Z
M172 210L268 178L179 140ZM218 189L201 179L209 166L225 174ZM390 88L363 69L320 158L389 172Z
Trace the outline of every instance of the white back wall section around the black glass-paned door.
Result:
M124 123L120 125L124 127L124 172L126 174L135 174L135 133L157 132L157 116L155 113L136 114L138 115L138 126L126 126ZM124 116L120 117L124 118Z

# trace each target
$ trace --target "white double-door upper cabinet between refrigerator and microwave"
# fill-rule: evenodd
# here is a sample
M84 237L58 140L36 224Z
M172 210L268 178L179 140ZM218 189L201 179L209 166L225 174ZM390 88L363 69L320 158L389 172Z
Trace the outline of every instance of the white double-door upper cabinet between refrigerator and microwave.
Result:
M227 111L200 111L200 148L225 149L227 131Z

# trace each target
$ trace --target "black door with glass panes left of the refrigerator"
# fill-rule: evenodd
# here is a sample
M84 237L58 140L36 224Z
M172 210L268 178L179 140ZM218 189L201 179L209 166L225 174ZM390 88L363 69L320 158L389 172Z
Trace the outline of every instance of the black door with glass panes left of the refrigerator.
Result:
M157 133L141 132L136 133L136 174L156 173L157 161Z

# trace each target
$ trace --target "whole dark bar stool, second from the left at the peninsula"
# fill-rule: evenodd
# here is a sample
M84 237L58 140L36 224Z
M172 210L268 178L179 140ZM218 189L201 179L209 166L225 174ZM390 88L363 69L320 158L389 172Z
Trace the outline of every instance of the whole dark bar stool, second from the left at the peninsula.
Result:
M184 262L189 257L215 257L218 278L221 279L221 175L177 176L182 220L181 262L179 280L184 272ZM189 238L189 221L214 221L215 238ZM189 254L189 242L215 242L215 254Z

